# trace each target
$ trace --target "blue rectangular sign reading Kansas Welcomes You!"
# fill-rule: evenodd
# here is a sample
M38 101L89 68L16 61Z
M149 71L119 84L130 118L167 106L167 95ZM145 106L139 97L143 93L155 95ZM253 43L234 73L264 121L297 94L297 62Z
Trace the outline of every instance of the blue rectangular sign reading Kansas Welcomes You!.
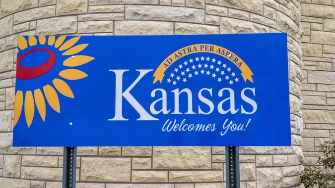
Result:
M286 34L19 36L14 146L290 145Z

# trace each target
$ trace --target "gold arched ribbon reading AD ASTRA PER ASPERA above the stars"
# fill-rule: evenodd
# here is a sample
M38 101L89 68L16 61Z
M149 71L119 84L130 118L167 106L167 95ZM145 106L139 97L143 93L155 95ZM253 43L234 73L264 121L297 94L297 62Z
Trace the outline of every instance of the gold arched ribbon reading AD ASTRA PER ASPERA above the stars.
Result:
M177 51L171 53L168 57L164 59L164 61L158 66L156 71L153 73L153 84L159 81L162 83L162 80L164 78L164 72L177 60L179 60L182 57L185 57L192 53L199 53L199 52L207 52L207 53L214 53L217 55L220 55L229 61L231 61L234 65L237 66L241 70L241 75L244 79L244 82L249 80L250 82L254 83L253 78L253 72L250 70L248 65L235 53L230 51L229 49L226 49L224 47L219 47L216 45L210 45L210 44L196 44L196 45L190 45L187 47L183 47L178 49Z

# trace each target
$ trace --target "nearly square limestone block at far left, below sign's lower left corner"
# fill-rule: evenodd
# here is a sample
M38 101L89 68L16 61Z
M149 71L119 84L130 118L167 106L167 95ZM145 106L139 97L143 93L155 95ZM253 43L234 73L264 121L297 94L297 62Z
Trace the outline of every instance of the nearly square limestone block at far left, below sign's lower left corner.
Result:
M3 157L3 177L19 178L21 167L21 156L4 155Z

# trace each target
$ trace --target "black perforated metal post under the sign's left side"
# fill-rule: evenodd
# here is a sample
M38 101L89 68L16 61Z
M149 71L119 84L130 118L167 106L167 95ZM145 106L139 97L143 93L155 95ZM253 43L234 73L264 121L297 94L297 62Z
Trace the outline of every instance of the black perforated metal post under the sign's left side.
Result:
M75 188L77 147L64 147L63 188Z

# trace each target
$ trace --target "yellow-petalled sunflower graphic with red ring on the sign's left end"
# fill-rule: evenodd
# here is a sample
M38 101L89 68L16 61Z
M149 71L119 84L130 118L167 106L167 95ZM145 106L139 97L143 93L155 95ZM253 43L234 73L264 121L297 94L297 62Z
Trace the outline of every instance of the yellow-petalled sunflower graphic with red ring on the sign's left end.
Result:
M18 36L14 126L23 116L22 111L30 127L36 113L35 107L44 122L46 104L61 113L59 94L74 98L67 81L88 76L74 67L94 59L76 55L88 46L76 45L79 39L67 36Z

